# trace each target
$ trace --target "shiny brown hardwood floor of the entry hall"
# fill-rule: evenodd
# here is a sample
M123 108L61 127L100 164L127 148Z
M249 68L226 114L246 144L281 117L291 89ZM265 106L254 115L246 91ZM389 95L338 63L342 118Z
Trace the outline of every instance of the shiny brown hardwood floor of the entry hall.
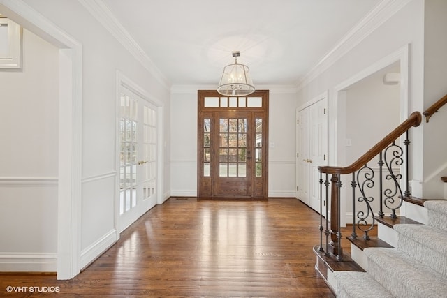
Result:
M296 199L170 198L73 280L0 274L0 297L335 297L314 269L318 225Z

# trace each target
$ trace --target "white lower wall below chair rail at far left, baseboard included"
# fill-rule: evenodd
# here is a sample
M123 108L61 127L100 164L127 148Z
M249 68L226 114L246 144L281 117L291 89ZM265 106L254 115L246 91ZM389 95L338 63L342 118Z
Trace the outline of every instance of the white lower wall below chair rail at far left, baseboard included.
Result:
M56 271L57 179L0 178L0 271Z

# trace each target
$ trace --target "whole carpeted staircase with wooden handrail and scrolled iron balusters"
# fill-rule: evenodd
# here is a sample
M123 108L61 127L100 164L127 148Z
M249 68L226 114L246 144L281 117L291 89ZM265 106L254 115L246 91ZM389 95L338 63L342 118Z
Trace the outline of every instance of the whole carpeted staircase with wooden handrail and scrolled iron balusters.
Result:
M423 113L426 121L446 104L447 95ZM409 129L421 120L413 112L347 167L318 167L320 201L330 204L320 206L315 269L337 297L447 297L447 183L444 200L414 198L409 188ZM378 171L368 165L374 158ZM352 195L351 253L342 247L343 184Z

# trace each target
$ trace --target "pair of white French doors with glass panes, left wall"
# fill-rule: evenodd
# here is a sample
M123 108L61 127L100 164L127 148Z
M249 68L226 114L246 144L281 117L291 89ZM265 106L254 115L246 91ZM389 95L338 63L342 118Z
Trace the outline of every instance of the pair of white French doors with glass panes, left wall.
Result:
M122 87L119 94L119 232L156 204L157 113Z

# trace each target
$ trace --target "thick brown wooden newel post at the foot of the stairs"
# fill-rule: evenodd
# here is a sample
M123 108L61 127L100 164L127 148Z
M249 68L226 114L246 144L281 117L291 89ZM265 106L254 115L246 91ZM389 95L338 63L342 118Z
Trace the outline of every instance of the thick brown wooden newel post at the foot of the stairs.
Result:
M342 234L340 233L340 188L342 182L339 174L332 174L330 178L330 244L328 250L332 255L337 255L342 260L342 246L340 245Z

